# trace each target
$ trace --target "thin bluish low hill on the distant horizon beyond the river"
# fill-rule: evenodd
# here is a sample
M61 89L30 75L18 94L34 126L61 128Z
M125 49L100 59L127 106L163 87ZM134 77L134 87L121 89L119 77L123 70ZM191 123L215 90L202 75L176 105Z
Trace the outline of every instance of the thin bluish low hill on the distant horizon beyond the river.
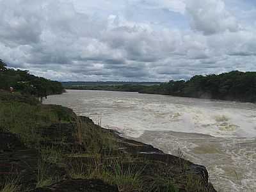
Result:
M140 84L140 85L154 85L161 84L161 82L129 82L129 81L67 81L61 82L63 86L86 86L86 85L124 85L124 84Z

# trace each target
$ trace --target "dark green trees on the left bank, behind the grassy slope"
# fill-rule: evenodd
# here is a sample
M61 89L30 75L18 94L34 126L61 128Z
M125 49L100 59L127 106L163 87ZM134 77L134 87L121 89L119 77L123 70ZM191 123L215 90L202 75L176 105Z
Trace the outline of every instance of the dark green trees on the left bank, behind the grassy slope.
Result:
M10 90L10 87L14 88L15 92L36 97L63 92L63 86L58 81L33 76L27 70L7 68L6 63L0 59L0 90Z

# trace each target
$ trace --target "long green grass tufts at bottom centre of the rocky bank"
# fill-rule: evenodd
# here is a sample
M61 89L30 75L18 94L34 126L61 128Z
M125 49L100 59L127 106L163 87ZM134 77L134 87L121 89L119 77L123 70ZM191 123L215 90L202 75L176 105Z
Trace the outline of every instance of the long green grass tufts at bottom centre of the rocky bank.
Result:
M141 170L136 170L136 166L124 166L117 160L104 161L100 156L86 162L72 159L68 175L72 179L101 179L124 192L142 191L143 187Z

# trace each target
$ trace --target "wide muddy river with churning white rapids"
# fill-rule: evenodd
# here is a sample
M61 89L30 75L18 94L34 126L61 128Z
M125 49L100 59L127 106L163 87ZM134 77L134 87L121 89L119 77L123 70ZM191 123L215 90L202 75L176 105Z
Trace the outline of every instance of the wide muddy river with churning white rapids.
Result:
M256 191L256 105L130 92L67 90L61 104L95 124L204 165L218 191Z

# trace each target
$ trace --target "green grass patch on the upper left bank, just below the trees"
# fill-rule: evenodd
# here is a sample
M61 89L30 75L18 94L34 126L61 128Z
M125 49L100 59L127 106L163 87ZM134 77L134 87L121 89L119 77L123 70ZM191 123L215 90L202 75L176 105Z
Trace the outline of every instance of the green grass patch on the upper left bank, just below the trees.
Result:
M24 102L0 102L0 129L19 134L23 143L34 147L43 140L40 127L74 121L74 114L60 106L31 105Z

